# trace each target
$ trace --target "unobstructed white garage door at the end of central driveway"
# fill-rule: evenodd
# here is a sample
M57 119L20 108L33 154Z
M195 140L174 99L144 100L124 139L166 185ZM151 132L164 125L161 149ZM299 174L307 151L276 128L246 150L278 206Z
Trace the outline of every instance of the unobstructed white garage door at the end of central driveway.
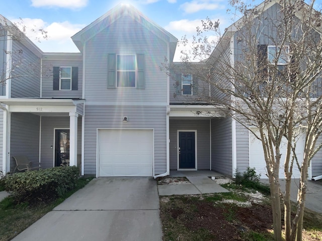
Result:
M153 130L99 130L99 176L152 176Z

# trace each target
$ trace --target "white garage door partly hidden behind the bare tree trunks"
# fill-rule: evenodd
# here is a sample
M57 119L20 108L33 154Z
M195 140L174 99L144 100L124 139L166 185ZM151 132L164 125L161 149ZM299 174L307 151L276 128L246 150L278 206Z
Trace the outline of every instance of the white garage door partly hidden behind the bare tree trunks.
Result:
M259 134L259 131L255 129L255 132L257 135ZM303 158L303 152L304 152L304 139L303 135L299 138L299 140L296 143L296 155L298 160L300 161ZM285 138L282 139L281 147L280 147L280 152L282 154L281 156L281 163L280 163L280 172L279 172L279 177L281 179L285 178L284 175L284 158L286 155L286 146L287 141ZM257 174L261 174L262 179L267 179L268 177L266 176L267 174L267 169L266 169L266 162L264 159L264 151L263 151L263 146L262 142L259 141L257 138L255 138L254 134L250 132L250 167L253 168L255 167L255 171ZM300 172L297 168L296 163L294 162L293 164L293 175L292 178L299 178L300 177Z

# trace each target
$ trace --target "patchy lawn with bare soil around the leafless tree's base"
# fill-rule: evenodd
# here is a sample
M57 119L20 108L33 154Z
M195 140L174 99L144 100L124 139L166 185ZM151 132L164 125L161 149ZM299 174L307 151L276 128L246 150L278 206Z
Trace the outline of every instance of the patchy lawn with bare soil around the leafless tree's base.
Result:
M273 240L268 196L224 187L231 192L160 197L163 240ZM322 215L306 210L304 219L303 240L322 240Z

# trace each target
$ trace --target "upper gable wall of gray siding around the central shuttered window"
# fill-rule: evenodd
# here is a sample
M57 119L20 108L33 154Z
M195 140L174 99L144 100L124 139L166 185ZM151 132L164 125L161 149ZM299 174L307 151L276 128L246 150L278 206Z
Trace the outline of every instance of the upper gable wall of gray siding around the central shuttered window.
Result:
M163 102L167 104L167 73L160 65L167 43L130 17L124 16L86 43L85 98L87 101ZM108 54L144 54L145 88L107 89ZM95 104L95 103L94 103Z

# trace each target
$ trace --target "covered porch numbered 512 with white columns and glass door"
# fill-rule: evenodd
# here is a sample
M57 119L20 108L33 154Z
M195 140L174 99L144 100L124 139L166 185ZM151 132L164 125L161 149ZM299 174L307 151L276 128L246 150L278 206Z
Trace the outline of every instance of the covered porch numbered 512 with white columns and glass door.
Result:
M83 99L14 98L0 103L4 173L15 169L14 156L26 156L41 168L81 165Z

